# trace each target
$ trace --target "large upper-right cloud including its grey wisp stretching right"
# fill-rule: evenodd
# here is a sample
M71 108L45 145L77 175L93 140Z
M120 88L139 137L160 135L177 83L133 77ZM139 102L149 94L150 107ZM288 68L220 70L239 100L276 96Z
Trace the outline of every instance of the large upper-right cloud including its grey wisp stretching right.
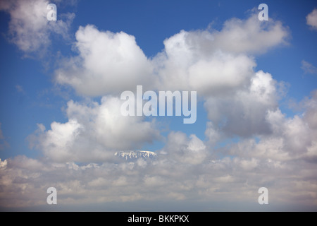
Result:
M223 29L180 31L164 41L153 59L159 89L230 93L247 85L256 63L249 54L287 44L289 32L279 21L227 20Z

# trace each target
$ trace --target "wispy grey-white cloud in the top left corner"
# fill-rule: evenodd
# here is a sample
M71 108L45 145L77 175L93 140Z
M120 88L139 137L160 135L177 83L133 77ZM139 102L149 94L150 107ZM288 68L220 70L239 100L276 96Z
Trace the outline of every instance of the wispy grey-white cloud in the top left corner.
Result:
M68 29L75 14L58 14L57 21L46 18L47 5L44 0L1 1L0 10L10 14L8 39L26 54L39 52L51 44L50 35L56 33L68 38ZM63 20L62 20L63 18Z

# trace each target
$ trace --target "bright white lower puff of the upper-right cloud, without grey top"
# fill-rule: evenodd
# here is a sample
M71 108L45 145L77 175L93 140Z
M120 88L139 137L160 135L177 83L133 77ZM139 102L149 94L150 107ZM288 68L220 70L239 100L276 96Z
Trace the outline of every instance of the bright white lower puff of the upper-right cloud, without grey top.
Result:
M183 60L183 56L192 59ZM256 66L253 59L243 54L214 52L208 59L194 56L181 51L180 55L166 56L160 63L159 89L196 90L200 95L230 93L248 83Z

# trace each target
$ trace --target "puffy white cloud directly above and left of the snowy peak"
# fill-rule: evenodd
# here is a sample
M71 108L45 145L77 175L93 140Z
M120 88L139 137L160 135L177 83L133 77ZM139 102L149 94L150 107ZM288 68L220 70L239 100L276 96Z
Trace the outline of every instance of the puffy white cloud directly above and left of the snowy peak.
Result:
M160 138L155 121L142 117L123 117L122 101L105 96L97 102L67 104L66 123L52 122L29 136L31 148L57 162L103 162L113 158L116 150L134 150Z

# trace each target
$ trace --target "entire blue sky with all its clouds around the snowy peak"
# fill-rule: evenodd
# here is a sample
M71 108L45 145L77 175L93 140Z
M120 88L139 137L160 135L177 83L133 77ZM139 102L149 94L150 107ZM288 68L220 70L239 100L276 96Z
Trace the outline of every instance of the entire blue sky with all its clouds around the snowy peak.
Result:
M1 211L317 210L316 1L4 0L0 23ZM123 116L137 85L196 91L197 120Z

